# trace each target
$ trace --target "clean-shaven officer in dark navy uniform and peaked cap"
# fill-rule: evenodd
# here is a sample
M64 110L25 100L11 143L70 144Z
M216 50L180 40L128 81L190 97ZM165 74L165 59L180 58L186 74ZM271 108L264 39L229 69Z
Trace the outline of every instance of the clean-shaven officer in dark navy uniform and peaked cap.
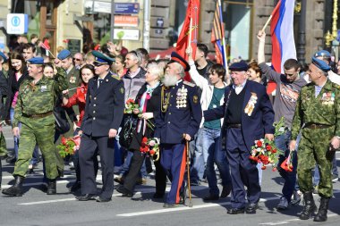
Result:
M97 51L95 72L98 77L89 80L83 121L81 123L81 147L79 161L81 167L80 201L96 199L108 202L114 192L114 138L123 119L123 80L110 72L115 61ZM97 186L93 158L100 155L103 187L97 196Z

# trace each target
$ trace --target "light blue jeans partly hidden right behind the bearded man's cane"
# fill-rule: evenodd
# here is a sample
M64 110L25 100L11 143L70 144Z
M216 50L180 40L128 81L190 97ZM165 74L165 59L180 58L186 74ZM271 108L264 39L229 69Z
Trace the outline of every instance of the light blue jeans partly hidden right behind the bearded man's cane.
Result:
M191 182L198 183L203 179L208 159L208 149L203 148L202 142L203 128L197 132L195 139L191 141L191 150L194 150L193 165L191 167Z

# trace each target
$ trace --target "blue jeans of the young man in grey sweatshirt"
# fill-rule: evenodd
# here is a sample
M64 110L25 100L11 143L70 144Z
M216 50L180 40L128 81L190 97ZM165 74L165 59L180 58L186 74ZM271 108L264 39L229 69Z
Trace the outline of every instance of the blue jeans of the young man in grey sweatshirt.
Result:
M283 170L280 165L285 161L285 158L288 157L290 154L290 150L288 148L289 142L292 138L292 131L286 130L284 134L277 136L275 138L275 144L276 147L280 150L282 150L285 155L280 155L279 161L278 161L278 172L280 175L285 179L284 187L282 188L282 194L283 196L288 200L288 202L291 201L291 197L293 196L293 190L295 188L296 183L296 168L297 168L297 152L293 152L293 172L286 172Z

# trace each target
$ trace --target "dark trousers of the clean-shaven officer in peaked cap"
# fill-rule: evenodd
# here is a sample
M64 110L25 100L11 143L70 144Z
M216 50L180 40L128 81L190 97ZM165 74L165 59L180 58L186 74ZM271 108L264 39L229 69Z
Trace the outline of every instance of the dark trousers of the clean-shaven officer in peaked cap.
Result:
M100 155L103 187L99 194L111 198L114 193L114 138L91 137L83 134L79 150L81 168L81 194L97 194L94 158Z

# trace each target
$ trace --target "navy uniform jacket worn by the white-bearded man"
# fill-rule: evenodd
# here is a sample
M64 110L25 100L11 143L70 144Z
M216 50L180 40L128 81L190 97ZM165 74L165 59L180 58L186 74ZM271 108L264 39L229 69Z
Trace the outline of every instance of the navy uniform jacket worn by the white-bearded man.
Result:
M187 84L190 83L181 81L170 88L170 100L166 113L160 111L160 114L155 117L155 138L160 138L161 144L181 144L184 133L193 138L200 128L202 110L198 87ZM183 86L188 90L186 106L177 108L177 91Z

